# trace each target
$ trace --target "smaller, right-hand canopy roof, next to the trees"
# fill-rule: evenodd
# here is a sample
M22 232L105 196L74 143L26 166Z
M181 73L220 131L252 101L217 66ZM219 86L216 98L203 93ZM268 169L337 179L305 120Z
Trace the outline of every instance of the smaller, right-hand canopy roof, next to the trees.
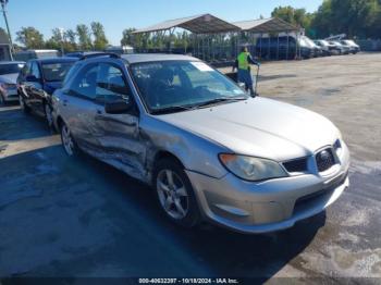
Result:
M234 25L238 26L242 30L251 33L281 33L281 32L297 32L300 28L294 26L281 18L259 18L251 21L235 22Z

